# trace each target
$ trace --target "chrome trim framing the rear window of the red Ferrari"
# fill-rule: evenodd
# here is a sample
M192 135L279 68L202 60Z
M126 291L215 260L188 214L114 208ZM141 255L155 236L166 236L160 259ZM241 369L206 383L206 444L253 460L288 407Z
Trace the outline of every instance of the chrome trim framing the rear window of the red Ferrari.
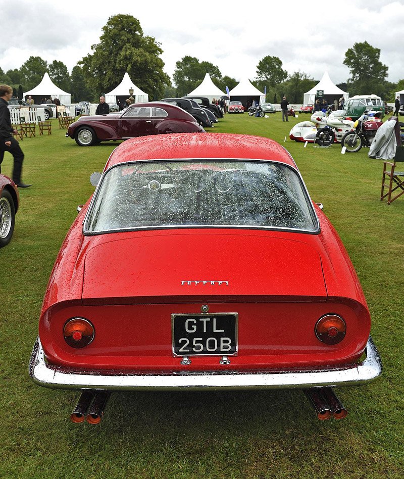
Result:
M290 153L284 148L285 152L289 155L290 159L293 161L292 156ZM112 153L110 155L110 158L112 156ZM313 218L316 220L316 224L313 230L306 230L306 229L298 229L298 228L281 228L281 227L275 227L275 226L252 226L252 225L217 225L217 224L212 224L212 225L189 225L189 224L182 224L182 225L156 225L156 226L135 226L135 227L129 227L129 228L119 228L119 229L107 229L103 231L90 231L88 228L86 228L88 218L91 214L91 211L94 207L95 201L97 199L99 189L104 181L105 176L109 171L111 171L113 168L121 167L122 165L136 165L140 163L145 163L145 162L181 162L181 161L242 161L242 162L252 162L252 163L277 163L279 165L285 166L287 168L290 168L293 170L302 186L303 193L307 196L308 201L308 208L311 209L311 213ZM108 162L107 162L108 163ZM113 232L120 232L120 231L137 231L137 230L155 230L155 229L176 229L176 228L186 228L186 229L206 229L206 228L218 228L218 229L223 229L223 228L229 228L229 229L261 229L261 230L270 230L270 231L290 231L290 232L296 232L296 233L305 233L305 234L319 234L320 233L320 220L317 216L316 210L313 206L313 200L310 197L309 191L307 189L306 183L304 179L302 178L300 171L297 169L297 167L293 167L292 165L288 165L287 163L284 163L282 161L277 161L277 160L263 160L263 159L258 159L258 158L158 158L158 159L145 159L145 160L133 160L133 161L125 161L122 163L117 163L116 165L111 166L107 170L105 170L98 181L98 184L95 188L94 194L91 198L90 205L87 209L86 215L84 217L83 221L83 234L85 236L95 236L98 234L107 234L107 233L113 233Z

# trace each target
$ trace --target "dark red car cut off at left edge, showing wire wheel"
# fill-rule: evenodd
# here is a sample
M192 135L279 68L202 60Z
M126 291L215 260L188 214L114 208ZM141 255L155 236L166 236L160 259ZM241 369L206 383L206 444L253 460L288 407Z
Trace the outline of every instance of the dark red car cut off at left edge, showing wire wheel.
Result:
M0 248L11 241L19 204L17 185L8 176L0 174Z

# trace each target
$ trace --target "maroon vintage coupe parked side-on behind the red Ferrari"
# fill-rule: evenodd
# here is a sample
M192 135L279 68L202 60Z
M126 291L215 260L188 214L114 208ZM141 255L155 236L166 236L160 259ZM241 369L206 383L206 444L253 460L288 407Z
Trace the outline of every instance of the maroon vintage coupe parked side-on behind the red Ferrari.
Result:
M82 116L69 126L66 137L74 138L80 147L89 147L101 141L136 136L204 131L182 108L150 102L130 105L122 113Z

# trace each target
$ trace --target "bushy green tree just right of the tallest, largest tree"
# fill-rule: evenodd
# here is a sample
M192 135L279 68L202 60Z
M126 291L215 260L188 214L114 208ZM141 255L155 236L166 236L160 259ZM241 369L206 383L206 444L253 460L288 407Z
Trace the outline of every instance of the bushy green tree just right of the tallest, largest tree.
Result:
M217 66L210 62L200 62L189 55L176 62L173 75L178 94L182 97L195 89L209 73L212 81L220 81L222 74ZM230 88L230 87L229 87Z

